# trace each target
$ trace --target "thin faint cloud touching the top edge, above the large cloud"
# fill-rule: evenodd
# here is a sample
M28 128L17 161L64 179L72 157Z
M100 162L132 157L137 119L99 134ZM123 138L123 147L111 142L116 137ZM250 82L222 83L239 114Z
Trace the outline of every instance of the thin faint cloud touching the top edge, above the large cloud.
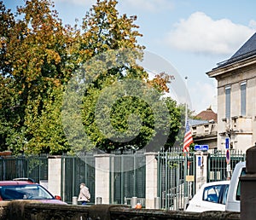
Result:
M122 0L122 8L129 7L139 11L148 11L158 13L162 10L173 9L174 6L170 0Z

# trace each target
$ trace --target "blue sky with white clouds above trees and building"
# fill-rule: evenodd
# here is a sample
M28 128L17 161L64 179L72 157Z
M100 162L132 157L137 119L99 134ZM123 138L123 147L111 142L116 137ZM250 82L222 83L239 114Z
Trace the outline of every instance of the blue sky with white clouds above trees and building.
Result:
M96 0L55 0L64 24L81 21ZM15 12L23 0L3 0ZM137 15L146 50L168 61L187 85L196 113L217 107L217 81L207 72L228 60L256 30L255 0L119 0L119 14ZM185 79L187 78L187 79ZM175 83L175 82L173 82Z

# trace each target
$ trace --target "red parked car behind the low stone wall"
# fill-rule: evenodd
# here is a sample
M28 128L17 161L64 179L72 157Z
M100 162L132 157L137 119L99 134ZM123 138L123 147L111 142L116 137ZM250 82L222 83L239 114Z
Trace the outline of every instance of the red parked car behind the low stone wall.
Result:
M49 191L30 180L0 181L1 200L37 200L43 203L65 204L60 196L53 196Z

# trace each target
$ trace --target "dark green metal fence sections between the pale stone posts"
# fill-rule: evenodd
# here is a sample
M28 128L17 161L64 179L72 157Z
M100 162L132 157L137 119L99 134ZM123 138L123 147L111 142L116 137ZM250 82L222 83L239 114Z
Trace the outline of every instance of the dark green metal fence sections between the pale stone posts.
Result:
M226 152L209 153L207 157L207 182L227 179L236 163L245 160L245 153L230 150L230 168L227 167ZM157 196L161 208L183 209L184 199L195 194L195 153L160 152L158 164ZM111 204L130 204L132 197L146 198L146 158L144 153L111 154L110 156L110 200ZM30 177L36 182L48 180L48 156L0 157L0 180ZM187 179L190 178L190 179ZM193 179L194 178L194 179ZM79 184L85 182L90 189L91 204L95 198L95 157L93 154L61 156L61 197L72 203L79 195Z

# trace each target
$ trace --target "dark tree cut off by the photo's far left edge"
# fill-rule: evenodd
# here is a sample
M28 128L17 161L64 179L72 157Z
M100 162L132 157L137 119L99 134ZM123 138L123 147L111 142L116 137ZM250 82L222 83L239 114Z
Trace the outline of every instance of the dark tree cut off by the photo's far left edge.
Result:
M3 2L0 2L0 11L0 150L6 150L10 139L20 142L22 132L20 136L15 134L20 121L17 114L19 103L15 93L15 80L10 75L12 61L9 60L9 44L15 28L15 17Z

